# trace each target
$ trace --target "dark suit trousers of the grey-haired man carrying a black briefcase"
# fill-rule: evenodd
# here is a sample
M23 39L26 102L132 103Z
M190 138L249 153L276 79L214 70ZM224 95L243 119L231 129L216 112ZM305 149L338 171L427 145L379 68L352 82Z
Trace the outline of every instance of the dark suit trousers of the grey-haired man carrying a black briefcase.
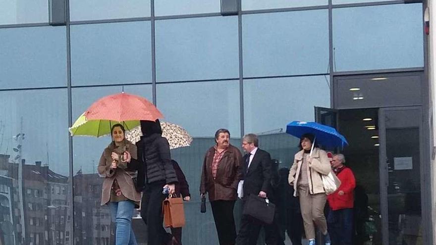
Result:
M246 199L242 199L242 209L244 209ZM236 245L256 245L259 233L265 223L248 215L242 215L241 227L236 237ZM265 230L267 232L267 230Z

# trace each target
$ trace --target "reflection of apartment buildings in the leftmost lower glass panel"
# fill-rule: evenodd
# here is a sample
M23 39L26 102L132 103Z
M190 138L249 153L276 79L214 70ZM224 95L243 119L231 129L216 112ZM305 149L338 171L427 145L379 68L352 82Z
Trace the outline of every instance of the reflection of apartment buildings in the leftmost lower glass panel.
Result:
M13 234L4 235L3 240L11 245L63 245L68 177L54 173L49 166L42 166L40 161L35 165L24 163L23 159L23 196L19 198L18 164L9 162L9 155L0 154L0 212L3 214L0 219L14 224ZM19 208L20 199L24 202L23 213ZM10 210L8 217L4 215L7 212L5 207ZM24 224L20 222L22 216L26 217ZM26 228L25 241L20 240L23 226Z

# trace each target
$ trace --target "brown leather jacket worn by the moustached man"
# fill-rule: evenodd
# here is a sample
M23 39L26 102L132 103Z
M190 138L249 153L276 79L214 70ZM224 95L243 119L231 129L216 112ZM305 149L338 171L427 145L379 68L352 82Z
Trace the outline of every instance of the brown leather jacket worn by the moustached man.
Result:
M242 154L229 145L218 164L217 176L212 176L215 148L206 152L201 173L200 193L208 193L209 200L236 200L239 180L242 179Z

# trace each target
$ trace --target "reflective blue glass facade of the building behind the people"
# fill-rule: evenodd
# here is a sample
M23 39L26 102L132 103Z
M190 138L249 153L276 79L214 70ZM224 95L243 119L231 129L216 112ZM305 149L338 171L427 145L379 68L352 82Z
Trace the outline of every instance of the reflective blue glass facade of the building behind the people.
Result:
M327 0L242 0L238 18L218 15L219 0L70 0L65 27L48 26L47 2L22 2L0 0L0 244L113 244L97 174L110 138L73 137L72 150L68 138L69 119L98 98L145 97L190 133L190 147L171 150L192 195L183 243L217 245L198 192L218 128L237 147L258 134L289 168L298 139L286 124L330 107L335 72L424 66L420 3L333 5L329 16ZM133 224L146 244L144 224Z

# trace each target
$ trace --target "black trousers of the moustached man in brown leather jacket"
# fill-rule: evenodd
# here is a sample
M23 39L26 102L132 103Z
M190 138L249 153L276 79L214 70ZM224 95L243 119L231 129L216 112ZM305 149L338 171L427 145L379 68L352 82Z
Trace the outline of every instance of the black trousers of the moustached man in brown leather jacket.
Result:
M234 200L211 201L212 213L214 214L215 226L217 227L219 245L235 244L236 227L235 219L233 217L234 206Z

